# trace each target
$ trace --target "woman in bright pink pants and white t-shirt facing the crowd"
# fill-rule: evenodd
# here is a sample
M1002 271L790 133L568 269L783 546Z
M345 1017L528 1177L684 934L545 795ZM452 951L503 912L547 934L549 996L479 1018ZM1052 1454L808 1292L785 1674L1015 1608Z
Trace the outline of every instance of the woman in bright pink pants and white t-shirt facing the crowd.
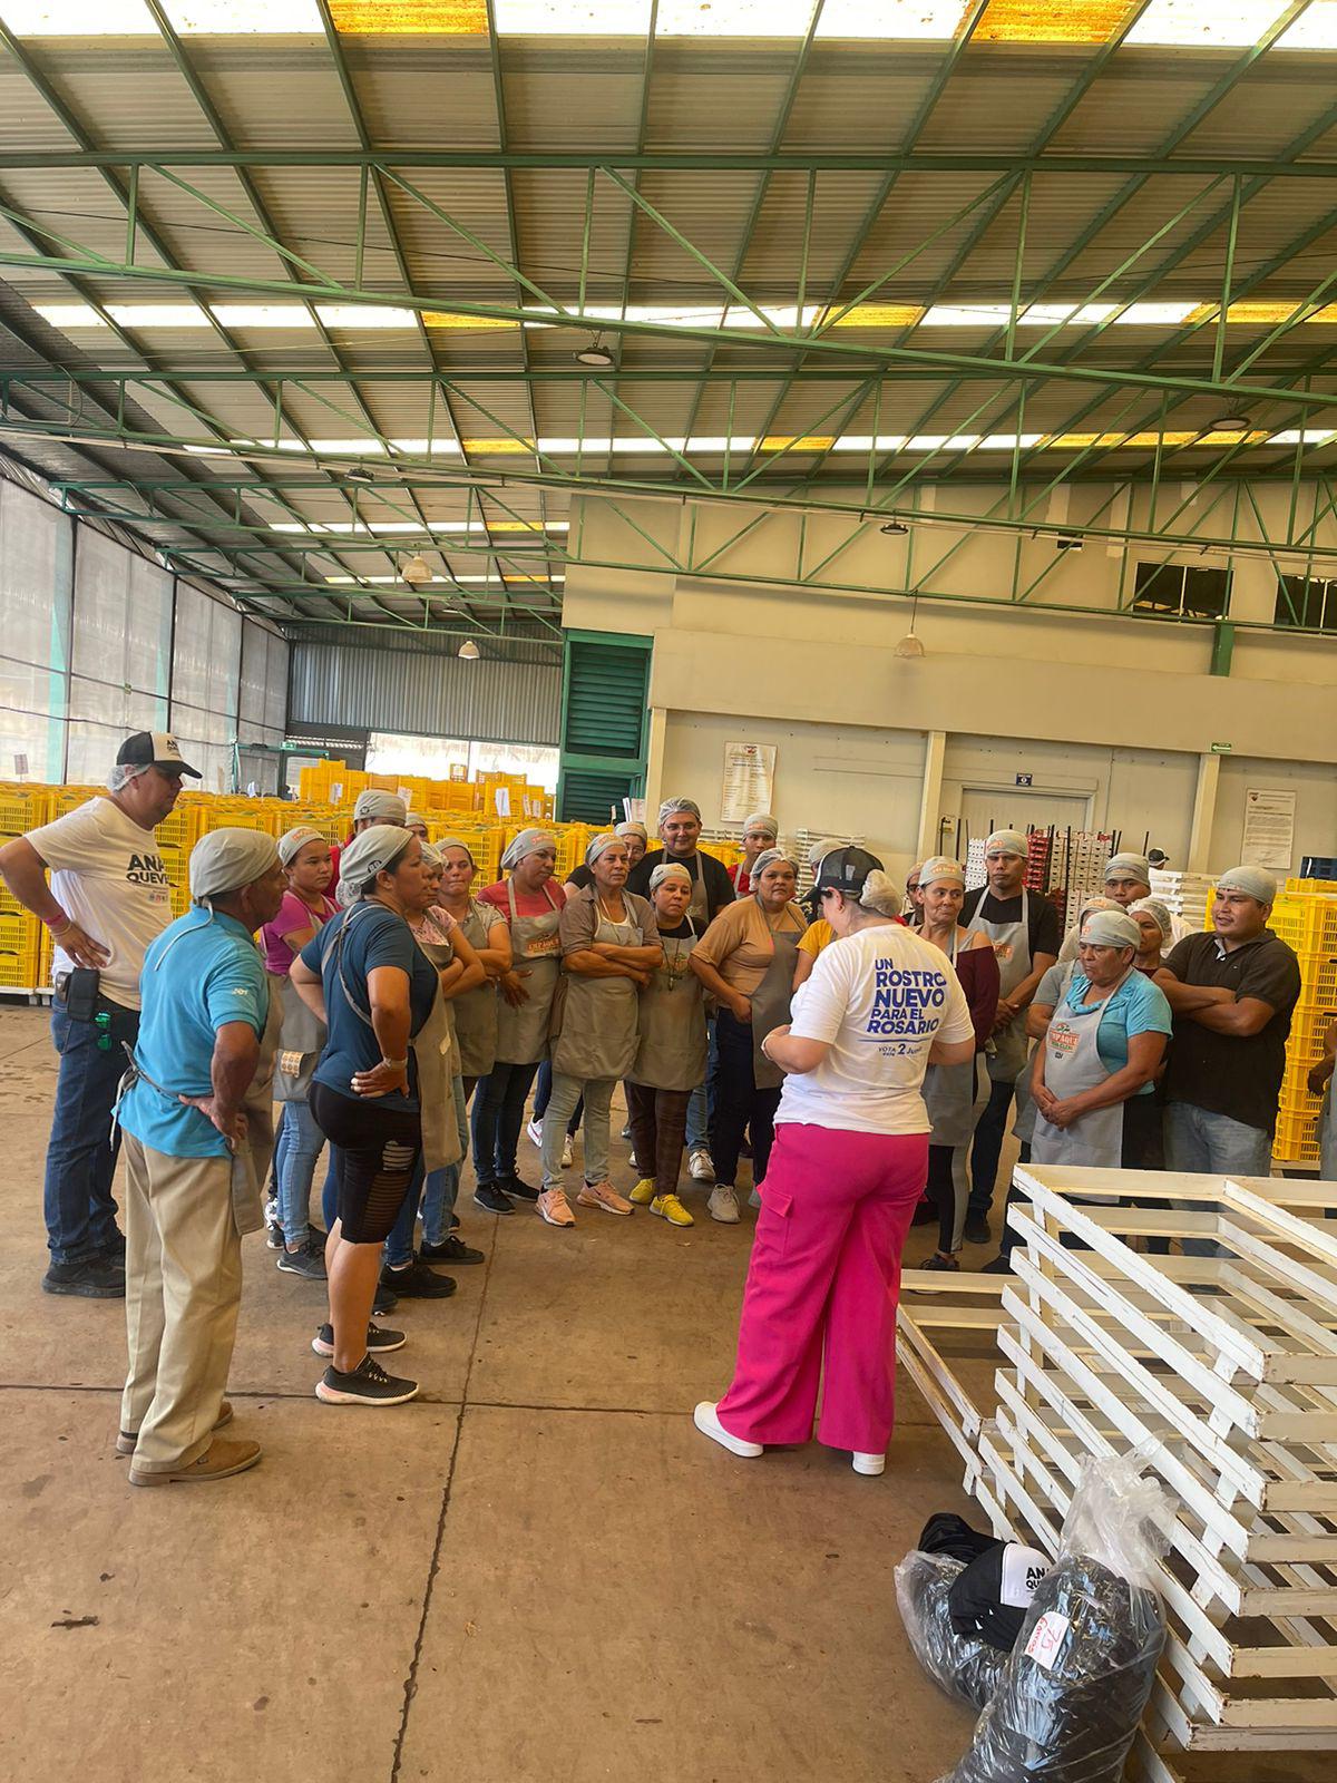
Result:
M920 1086L975 1054L952 963L897 922L900 892L863 849L816 879L838 936L763 1041L786 1072L761 1189L738 1362L695 1425L734 1455L818 1441L881 1473L891 1439L900 1252L929 1168Z

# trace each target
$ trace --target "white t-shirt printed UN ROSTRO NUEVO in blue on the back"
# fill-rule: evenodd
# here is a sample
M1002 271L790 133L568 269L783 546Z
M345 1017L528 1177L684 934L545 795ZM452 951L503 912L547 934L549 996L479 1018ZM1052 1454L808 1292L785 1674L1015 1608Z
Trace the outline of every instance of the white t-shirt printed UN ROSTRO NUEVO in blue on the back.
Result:
M790 1032L831 1052L784 1079L775 1122L888 1134L931 1132L920 1095L929 1048L939 1036L975 1038L947 954L898 924L824 949L795 991Z

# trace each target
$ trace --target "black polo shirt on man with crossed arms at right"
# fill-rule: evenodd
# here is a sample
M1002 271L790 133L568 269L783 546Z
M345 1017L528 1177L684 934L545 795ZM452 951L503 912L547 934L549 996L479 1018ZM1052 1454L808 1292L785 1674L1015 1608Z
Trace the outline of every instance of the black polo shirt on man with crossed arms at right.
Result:
M1223 952L1216 934L1187 934L1166 966L1180 984L1223 984L1275 1009L1257 1034L1214 1034L1193 1016L1175 1016L1175 1041L1166 1070L1166 1102L1189 1102L1209 1114L1228 1114L1262 1132L1276 1129L1276 1100L1285 1075L1291 1011L1300 998L1300 965L1271 929Z

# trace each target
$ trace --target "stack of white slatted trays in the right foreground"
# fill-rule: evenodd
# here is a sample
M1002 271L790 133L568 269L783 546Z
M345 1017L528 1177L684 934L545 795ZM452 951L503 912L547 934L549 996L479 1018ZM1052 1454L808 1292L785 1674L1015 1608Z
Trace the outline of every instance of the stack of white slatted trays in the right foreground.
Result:
M1337 1751L1337 1189L1059 1168L1016 1184L1013 1278L902 1284L902 1360L966 1491L997 1533L1054 1553L1084 1457L1146 1450L1178 1503L1152 1744ZM1073 1198L1091 1193L1143 1205ZM1214 1253L1127 1243L1146 1236Z

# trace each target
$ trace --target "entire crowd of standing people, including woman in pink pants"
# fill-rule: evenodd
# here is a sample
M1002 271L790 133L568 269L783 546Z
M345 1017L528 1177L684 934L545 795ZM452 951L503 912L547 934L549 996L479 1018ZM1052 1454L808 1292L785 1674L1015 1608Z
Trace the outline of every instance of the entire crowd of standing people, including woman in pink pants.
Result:
M456 1214L469 1150L480 1209L531 1205L556 1230L636 1207L692 1225L685 1157L710 1216L736 1223L751 1154L738 1362L697 1426L749 1457L806 1441L824 1382L818 1437L861 1473L881 1471L891 1432L909 1225L936 1218L939 1269L991 1239L1013 1104L1038 1163L1269 1170L1300 975L1259 868L1221 875L1212 933L1177 936L1146 861L1116 854L1064 938L1025 886L1016 831L989 836L982 888L938 856L909 875L909 902L874 854L818 843L800 904L770 813L747 820L727 870L699 847L697 804L668 799L654 847L619 824L558 883L554 834L528 827L478 886L465 840L433 845L401 799L367 792L342 849L305 827L212 831L191 854L193 908L169 922L153 826L193 772L171 736L137 733L105 799L0 850L55 940L43 1287L127 1300L118 1451L135 1485L258 1460L217 1432L241 1237L266 1223L280 1271L326 1286L317 1396L414 1398L383 1366L406 1335L374 1318L405 1294L447 1298L433 1264L483 1261ZM1337 1023L1314 1088L1335 1052ZM540 1072L529 1184L517 1152ZM1332 1125L1328 1107L1337 1175Z

